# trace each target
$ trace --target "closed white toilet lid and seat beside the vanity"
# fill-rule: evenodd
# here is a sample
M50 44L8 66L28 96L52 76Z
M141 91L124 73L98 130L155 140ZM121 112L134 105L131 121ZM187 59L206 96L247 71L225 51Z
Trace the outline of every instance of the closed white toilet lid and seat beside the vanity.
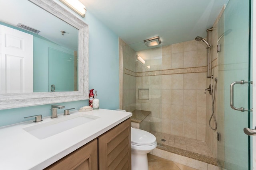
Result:
M156 143L156 137L154 135L141 129L132 128L131 136L132 136L132 140L131 140L132 145L150 146Z

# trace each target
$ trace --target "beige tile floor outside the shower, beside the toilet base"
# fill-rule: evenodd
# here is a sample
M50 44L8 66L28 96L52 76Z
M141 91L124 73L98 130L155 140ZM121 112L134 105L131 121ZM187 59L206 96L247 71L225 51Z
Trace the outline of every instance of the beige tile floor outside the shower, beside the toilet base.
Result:
M148 154L148 167L149 170L196 170L152 154Z

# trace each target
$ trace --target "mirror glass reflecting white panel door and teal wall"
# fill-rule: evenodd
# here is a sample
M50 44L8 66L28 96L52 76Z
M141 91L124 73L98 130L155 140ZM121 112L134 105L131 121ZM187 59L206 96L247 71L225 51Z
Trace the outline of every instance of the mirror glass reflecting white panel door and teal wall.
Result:
M8 0L0 39L1 94L78 91L78 29L28 0Z

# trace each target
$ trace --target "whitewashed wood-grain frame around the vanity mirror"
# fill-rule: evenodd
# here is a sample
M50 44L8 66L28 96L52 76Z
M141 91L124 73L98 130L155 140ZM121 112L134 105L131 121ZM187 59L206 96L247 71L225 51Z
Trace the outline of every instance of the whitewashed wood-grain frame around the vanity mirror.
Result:
M50 15L58 18L58 20L61 20L65 24L69 26L71 25L72 27L77 29L78 50L77 51L74 50L74 51L76 51L78 57L77 57L77 62L73 61L74 63L77 63L77 72L73 73L74 77L75 75L77 75L77 78L74 80L74 82L76 82L77 84L76 85L77 88L74 87L74 91L67 90L66 92L55 91L55 92L0 93L0 109L10 109L10 108L17 108L17 107L36 106L36 105L53 104L53 103L88 99L88 25L84 23L84 21L80 20L79 18L71 14L68 10L66 10L65 8L63 8L62 6L60 6L54 1L45 1L45 0L28 0L28 1L30 1L31 4L33 3L32 5L34 5L36 8L40 7L39 10L45 10ZM38 10L34 10L34 11L36 12ZM44 24L48 24L48 23L44 23ZM70 41L71 40L72 39L70 38ZM68 43L69 42L66 41L66 44ZM70 47L70 49L77 49L77 47L74 47L74 46ZM55 56L56 51L53 50L52 55ZM52 61L55 63L58 63L58 60L52 60ZM54 63L52 65L54 65ZM57 70L58 69L55 69L55 72ZM0 74L0 77L1 75L2 74ZM40 79L41 77L38 78L38 81ZM53 78L53 80L54 79L55 78ZM72 82L72 84L75 84L74 82Z

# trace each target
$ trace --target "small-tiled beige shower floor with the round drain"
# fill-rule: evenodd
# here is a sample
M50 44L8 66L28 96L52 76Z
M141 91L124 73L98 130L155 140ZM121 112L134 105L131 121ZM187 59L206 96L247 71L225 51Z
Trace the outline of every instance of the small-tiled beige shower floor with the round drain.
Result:
M196 139L190 139L176 135L169 135L166 133L162 133L161 135L161 133L153 131L151 133L156 136L158 145L162 143L171 147L213 157L212 152L204 141L198 141ZM162 142L160 141L161 139L165 139L166 141Z

